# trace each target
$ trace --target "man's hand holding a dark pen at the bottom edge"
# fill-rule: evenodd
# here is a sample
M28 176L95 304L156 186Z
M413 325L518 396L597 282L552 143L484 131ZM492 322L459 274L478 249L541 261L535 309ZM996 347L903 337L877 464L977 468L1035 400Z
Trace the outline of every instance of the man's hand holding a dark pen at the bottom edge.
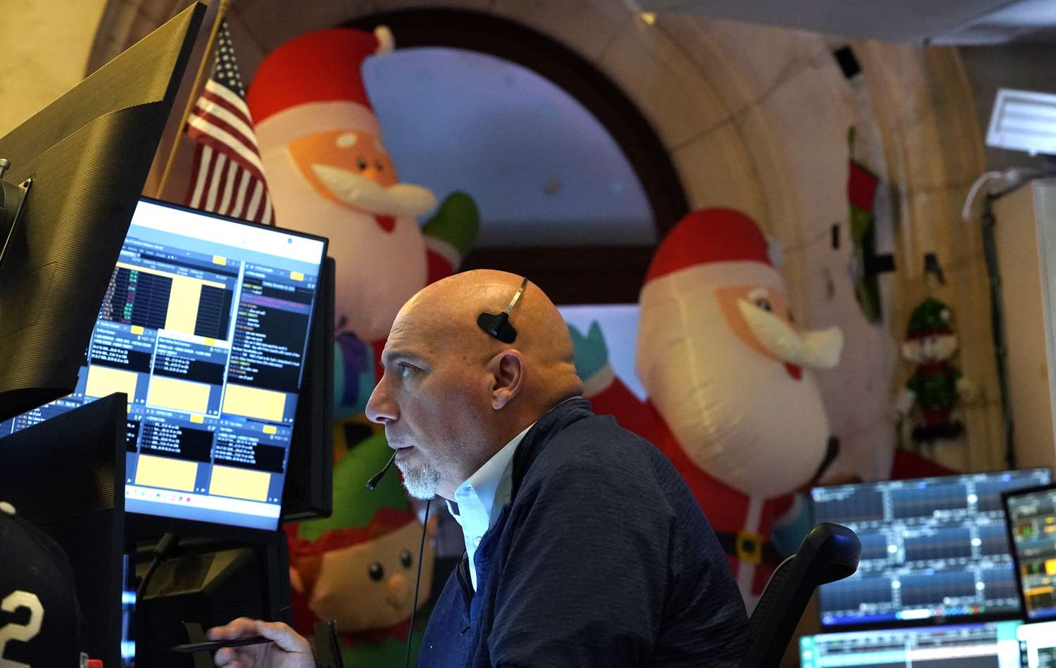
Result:
M206 637L210 641L231 641L251 635L263 635L271 642L225 647L216 652L213 662L224 668L315 668L312 646L281 622L239 617L227 626L206 631Z

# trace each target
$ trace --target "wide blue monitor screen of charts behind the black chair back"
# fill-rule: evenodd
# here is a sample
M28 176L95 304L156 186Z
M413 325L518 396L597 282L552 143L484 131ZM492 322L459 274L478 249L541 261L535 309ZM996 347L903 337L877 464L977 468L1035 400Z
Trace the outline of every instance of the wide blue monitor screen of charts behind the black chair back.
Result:
M1001 493L1050 479L1034 469L811 490L814 520L862 540L857 572L818 590L822 626L1017 614Z

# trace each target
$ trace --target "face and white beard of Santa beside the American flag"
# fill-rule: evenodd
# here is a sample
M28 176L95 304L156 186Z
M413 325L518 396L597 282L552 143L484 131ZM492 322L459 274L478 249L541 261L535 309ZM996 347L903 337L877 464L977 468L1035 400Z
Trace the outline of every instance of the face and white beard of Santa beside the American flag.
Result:
M303 113L302 113L303 112ZM399 307L426 284L426 245L414 215L435 198L399 184L371 132L339 128L264 141L276 125L310 127L314 109L262 128L262 154L280 225L329 238L337 261L335 308L359 338L389 332ZM271 129L271 132L268 129Z

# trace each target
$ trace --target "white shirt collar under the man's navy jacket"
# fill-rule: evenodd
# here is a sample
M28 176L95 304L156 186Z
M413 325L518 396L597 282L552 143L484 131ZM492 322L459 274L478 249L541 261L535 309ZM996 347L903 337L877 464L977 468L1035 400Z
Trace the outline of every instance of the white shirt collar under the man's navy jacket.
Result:
M510 503L510 493L513 488L513 453L534 424L532 422L524 432L514 436L513 440L458 485L455 490L457 513L448 501L448 510L463 528L473 591L476 591L476 565L473 562L476 548L480 545L484 534L498 519L503 509Z

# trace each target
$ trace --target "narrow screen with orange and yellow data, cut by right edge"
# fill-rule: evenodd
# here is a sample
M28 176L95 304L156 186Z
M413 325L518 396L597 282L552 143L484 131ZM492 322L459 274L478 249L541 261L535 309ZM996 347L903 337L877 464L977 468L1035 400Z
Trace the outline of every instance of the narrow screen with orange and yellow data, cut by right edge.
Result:
M1056 489L1007 497L1027 619L1056 617Z

